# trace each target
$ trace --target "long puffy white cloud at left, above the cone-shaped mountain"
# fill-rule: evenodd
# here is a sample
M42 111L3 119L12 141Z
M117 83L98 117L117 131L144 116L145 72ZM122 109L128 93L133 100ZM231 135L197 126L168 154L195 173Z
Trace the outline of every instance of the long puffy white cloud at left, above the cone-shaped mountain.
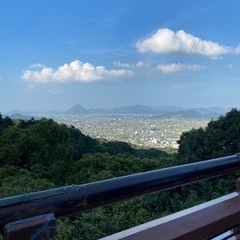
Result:
M130 77L130 70L107 70L103 66L94 66L79 60L59 66L56 70L43 66L40 70L24 70L21 78L31 83L56 82L93 82Z

